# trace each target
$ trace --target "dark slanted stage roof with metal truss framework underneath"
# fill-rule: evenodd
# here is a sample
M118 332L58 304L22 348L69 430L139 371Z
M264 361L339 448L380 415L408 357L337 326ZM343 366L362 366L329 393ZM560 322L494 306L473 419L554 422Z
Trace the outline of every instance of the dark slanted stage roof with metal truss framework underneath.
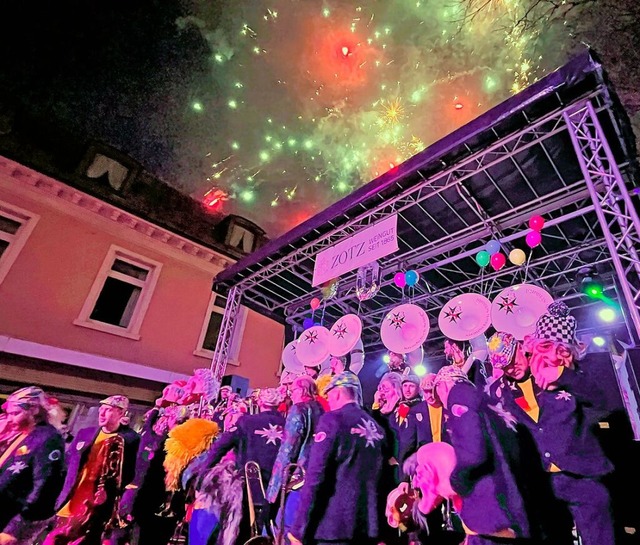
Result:
M379 260L382 288L358 301L356 271L340 278L338 293L316 311L330 327L355 312L365 346L381 348L380 324L394 306L411 302L428 313L429 353L441 351L440 309L455 295L482 292L492 299L523 281L537 284L576 311L590 303L575 277L593 266L606 280L612 260L583 179L563 114L591 101L625 178L635 174L635 145L626 114L596 55L585 51L477 119L376 178L323 212L222 271L214 290L242 290L242 304L301 331L309 302L314 258L360 229L398 215L399 250ZM492 238L506 254L525 244L532 215L546 219L543 243L528 267L508 264L481 272L475 254ZM420 274L404 294L393 283L399 270ZM403 300L404 295L404 300Z

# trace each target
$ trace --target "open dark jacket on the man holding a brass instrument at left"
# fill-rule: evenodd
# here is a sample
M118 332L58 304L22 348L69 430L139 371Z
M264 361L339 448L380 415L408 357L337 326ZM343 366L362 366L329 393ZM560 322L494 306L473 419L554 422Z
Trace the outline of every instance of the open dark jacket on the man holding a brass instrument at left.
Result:
M82 474L89 452L94 441L100 433L100 427L92 426L84 428L74 437L72 443L67 449L67 475L64 480L62 492L56 502L56 510L65 505L71 494L74 492L78 478ZM136 467L136 453L140 443L140 435L133 431L129 426L120 426L116 432L124 439L124 459L122 461L122 483L124 488L132 480Z

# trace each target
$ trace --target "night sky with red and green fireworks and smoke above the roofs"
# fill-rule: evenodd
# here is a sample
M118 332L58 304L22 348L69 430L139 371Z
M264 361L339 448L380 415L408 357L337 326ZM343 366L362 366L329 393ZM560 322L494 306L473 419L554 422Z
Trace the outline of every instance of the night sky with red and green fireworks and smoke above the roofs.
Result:
M274 237L598 41L593 10L530 4L5 1L0 102Z

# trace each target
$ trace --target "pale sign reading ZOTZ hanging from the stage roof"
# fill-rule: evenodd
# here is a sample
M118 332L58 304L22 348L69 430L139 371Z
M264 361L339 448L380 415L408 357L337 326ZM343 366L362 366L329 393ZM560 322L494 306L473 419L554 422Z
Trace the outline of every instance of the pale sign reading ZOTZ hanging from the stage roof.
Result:
M311 285L315 288L397 250L398 216L394 214L320 252Z

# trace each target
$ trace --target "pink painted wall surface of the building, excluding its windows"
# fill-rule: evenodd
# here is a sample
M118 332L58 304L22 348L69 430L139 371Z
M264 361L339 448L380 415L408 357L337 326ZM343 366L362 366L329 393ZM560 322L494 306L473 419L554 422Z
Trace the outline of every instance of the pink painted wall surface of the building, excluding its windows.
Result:
M0 200L40 215L0 284L0 335L184 374L210 364L193 351L217 272L213 265L206 271L173 258L159 241L7 176L0 179ZM112 244L163 264L137 341L73 324ZM283 336L283 326L250 312L241 365L228 373L249 378L252 387L276 383Z

